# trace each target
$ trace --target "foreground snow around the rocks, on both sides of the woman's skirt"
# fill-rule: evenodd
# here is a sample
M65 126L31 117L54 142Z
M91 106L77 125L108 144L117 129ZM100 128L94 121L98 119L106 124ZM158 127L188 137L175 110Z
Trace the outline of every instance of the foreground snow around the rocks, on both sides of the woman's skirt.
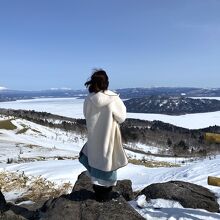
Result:
M146 168L140 165L128 164L119 169L118 179L130 179L133 190L141 190L149 184L170 180L183 180L205 186L220 198L220 188L207 185L207 177L220 176L220 156L215 159L205 159L195 164L176 168ZM75 183L77 176L85 170L78 160L52 160L23 164L0 164L0 171L24 172L27 176L47 178L56 184L64 182ZM8 197L12 197L7 194ZM220 203L220 201L219 201ZM143 196L130 204L146 219L220 219L219 213L210 213L198 209L185 209L180 204L166 200L152 200L148 203ZM142 207L139 208L138 206ZM160 207L161 209L155 209Z

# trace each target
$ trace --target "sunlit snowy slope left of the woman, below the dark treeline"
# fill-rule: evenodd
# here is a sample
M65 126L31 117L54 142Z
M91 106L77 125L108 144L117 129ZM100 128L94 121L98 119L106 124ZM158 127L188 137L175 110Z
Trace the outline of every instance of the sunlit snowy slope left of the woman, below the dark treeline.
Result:
M0 121L7 118L0 116ZM11 120L17 128L0 129L0 162L77 157L86 137L24 120ZM25 129L25 130L24 130Z

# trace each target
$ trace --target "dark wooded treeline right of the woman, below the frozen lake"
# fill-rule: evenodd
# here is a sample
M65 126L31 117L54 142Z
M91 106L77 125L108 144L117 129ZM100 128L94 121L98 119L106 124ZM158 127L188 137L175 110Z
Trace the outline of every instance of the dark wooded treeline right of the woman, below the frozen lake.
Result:
M206 132L220 133L219 126L204 129L186 129L161 121L127 119L121 125L124 142L139 142L149 146L158 146L162 154L175 156L206 156L219 153L220 144L204 139Z

